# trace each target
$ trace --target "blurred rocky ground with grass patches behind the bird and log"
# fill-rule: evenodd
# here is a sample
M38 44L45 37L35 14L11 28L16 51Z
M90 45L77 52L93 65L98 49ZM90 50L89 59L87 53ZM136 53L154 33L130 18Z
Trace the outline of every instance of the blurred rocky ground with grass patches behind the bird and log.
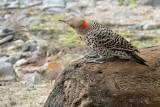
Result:
M159 0L0 0L2 107L43 106L58 74L89 53L58 22L74 16L105 24L139 49L160 44Z

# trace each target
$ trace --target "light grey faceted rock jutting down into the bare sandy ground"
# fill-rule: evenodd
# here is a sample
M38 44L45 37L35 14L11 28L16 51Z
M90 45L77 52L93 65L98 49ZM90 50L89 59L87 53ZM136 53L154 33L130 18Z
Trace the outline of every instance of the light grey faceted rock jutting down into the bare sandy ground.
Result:
M34 84L41 81L41 75L37 72L25 74L22 77L22 81L26 82L26 86L29 88L33 88Z

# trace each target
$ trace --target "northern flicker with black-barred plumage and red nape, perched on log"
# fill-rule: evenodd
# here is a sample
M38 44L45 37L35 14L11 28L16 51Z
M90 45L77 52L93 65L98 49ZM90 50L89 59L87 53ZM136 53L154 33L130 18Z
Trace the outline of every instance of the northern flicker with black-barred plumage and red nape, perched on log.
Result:
M81 40L92 50L88 57L95 59L86 62L103 63L102 59L118 57L121 59L135 59L140 64L147 65L146 61L136 54L139 52L136 47L108 27L96 22L86 21L83 18L59 21L76 30Z

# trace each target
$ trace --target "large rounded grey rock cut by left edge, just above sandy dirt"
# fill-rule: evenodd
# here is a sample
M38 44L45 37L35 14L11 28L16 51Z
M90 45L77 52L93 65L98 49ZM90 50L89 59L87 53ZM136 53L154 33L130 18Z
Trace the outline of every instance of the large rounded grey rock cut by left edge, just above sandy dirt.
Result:
M0 62L0 81L15 81L16 75L12 64Z

